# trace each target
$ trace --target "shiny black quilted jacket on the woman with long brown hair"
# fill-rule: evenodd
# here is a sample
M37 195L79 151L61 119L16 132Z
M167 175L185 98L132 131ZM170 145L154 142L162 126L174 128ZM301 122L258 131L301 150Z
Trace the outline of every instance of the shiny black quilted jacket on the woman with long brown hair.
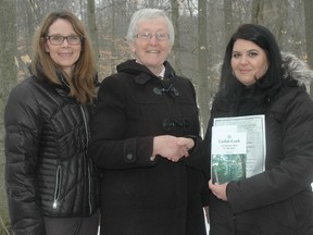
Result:
M63 84L28 77L5 107L5 177L16 235L43 235L43 217L89 217L98 208L97 170L87 156L92 107Z

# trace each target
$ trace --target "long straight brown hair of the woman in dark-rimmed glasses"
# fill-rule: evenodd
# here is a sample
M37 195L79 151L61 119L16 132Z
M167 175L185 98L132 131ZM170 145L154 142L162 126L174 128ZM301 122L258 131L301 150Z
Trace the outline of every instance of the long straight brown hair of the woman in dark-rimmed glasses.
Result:
M68 21L75 33L82 36L82 52L79 59L75 63L73 70L73 77L68 77L65 72L51 59L50 54L45 50L49 27L58 20L63 18ZM33 62L30 65L32 73L39 78L39 74L43 73L47 78L54 83L60 84L57 71L60 71L67 79L70 85L70 96L76 98L79 103L92 102L95 89L96 64L95 53L91 46L91 40L87 30L80 20L73 13L67 11L52 12L48 14L37 33L35 34L33 44Z

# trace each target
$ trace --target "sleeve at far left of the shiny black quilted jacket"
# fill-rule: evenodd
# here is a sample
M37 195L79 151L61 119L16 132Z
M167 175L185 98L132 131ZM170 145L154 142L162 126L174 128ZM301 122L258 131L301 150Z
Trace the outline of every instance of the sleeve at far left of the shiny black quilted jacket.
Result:
M17 86L4 111L5 184L15 235L46 234L36 182L39 120L33 92Z

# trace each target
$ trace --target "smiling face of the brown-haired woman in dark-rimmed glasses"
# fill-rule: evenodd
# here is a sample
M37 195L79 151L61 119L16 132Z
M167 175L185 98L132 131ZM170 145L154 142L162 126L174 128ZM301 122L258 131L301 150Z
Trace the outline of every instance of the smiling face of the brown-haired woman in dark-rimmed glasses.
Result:
M51 59L57 64L59 64L64 70L64 72L71 77L74 64L76 63L76 61L79 59L80 55L82 51L80 38L77 40L78 35L75 33L71 22L63 18L58 18L55 22L53 22L53 24L50 25L48 36L54 36L54 37L50 37L50 39L46 41L45 45L46 51L50 53ZM55 40L58 41L58 38L60 40L60 37L58 36L63 37L71 36L70 42L72 44L68 42L67 38L64 39L62 44L55 45Z

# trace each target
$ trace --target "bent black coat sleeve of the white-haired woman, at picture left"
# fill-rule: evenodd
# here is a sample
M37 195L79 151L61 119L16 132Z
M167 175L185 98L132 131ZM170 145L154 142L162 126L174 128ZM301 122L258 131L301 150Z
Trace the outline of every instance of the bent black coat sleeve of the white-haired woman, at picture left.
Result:
M127 137L126 92L127 87L115 76L104 78L99 88L89 147L89 154L99 168L132 169L155 164L150 160L153 136Z

